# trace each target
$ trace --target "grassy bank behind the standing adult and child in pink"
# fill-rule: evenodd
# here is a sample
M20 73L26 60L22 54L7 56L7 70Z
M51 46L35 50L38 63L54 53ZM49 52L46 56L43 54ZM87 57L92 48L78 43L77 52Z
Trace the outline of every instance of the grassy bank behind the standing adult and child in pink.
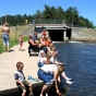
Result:
M1 28L0 27L0 35L1 35ZM19 34L24 34L26 33L27 31L32 29L32 26L12 26L10 27L10 48L17 45L19 44ZM28 38L27 36L24 36L23 35L23 38L24 38L24 41L26 41ZM2 53L4 50L3 50L3 43L2 43L2 38L0 37L0 53Z

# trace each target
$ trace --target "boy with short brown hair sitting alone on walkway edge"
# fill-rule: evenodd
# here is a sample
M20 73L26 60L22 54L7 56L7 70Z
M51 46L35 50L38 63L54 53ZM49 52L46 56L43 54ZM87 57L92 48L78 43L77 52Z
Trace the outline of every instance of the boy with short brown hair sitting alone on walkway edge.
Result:
M16 85L23 91L22 96L25 96L26 94L26 86L29 87L29 92L31 92L29 96L34 96L32 91L32 84L25 81L25 76L23 74L24 64L22 62L17 62L16 68L17 70L14 73L14 79L15 79Z

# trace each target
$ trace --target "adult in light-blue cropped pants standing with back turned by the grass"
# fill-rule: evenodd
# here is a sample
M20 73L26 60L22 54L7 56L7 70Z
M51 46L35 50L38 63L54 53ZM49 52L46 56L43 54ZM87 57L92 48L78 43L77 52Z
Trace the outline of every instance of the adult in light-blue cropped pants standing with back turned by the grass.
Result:
M3 38L3 49L9 52L10 28L8 27L8 23L4 23L1 34Z

